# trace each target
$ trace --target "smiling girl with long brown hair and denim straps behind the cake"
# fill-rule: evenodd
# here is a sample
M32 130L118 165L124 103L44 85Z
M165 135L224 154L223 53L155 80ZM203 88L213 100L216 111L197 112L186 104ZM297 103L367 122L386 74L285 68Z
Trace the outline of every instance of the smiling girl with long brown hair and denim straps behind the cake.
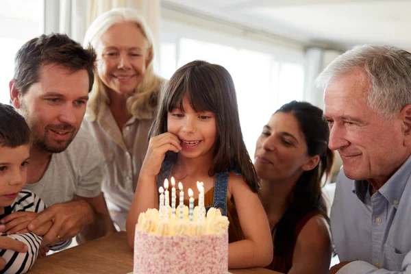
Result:
M174 73L159 103L127 216L129 245L134 246L138 215L158 208L158 186L173 176L184 189L195 191L197 181L203 182L205 206L221 208L228 217L230 269L268 265L273 258L269 223L242 141L231 75L216 64L190 62Z

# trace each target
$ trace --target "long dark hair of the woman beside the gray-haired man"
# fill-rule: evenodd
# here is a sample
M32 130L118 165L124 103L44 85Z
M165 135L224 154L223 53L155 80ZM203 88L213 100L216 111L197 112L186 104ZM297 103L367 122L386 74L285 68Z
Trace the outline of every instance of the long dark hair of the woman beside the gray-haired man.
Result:
M288 209L275 225L273 245L275 255L285 256L295 246L297 221L308 212L319 212L329 223L327 206L321 191L321 179L328 178L334 162L334 153L328 148L329 128L323 119L323 110L307 102L291 101L277 112L292 114L299 123L307 143L309 156L319 155L319 164L310 171L304 171L288 197Z

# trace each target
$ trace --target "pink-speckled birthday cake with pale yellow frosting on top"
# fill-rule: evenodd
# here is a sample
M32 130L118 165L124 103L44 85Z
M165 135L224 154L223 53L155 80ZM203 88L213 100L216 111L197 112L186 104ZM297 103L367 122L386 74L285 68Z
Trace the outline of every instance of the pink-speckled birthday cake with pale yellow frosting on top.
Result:
M160 199L161 201L161 199ZM201 205L161 206L138 216L134 238L134 274L227 274L228 219Z

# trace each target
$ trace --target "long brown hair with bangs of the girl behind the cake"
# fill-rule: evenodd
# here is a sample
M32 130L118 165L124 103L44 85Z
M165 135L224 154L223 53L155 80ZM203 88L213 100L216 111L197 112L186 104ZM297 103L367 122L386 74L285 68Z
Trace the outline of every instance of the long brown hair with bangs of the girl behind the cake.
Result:
M182 109L184 97L196 112L216 114L218 138L208 175L227 169L238 171L251 190L258 192L257 173L242 140L236 89L223 66L196 60L177 69L160 92L150 138L167 132L167 113L176 107ZM166 158L175 162L177 153L169 151Z

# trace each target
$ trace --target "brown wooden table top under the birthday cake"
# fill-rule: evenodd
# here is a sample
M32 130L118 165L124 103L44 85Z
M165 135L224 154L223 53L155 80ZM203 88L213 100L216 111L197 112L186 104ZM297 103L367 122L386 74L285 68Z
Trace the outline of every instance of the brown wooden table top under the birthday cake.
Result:
M36 261L29 274L127 274L133 271L133 251L125 232L118 232ZM267 269L232 269L233 274L275 274ZM279 274L279 273L277 273Z

